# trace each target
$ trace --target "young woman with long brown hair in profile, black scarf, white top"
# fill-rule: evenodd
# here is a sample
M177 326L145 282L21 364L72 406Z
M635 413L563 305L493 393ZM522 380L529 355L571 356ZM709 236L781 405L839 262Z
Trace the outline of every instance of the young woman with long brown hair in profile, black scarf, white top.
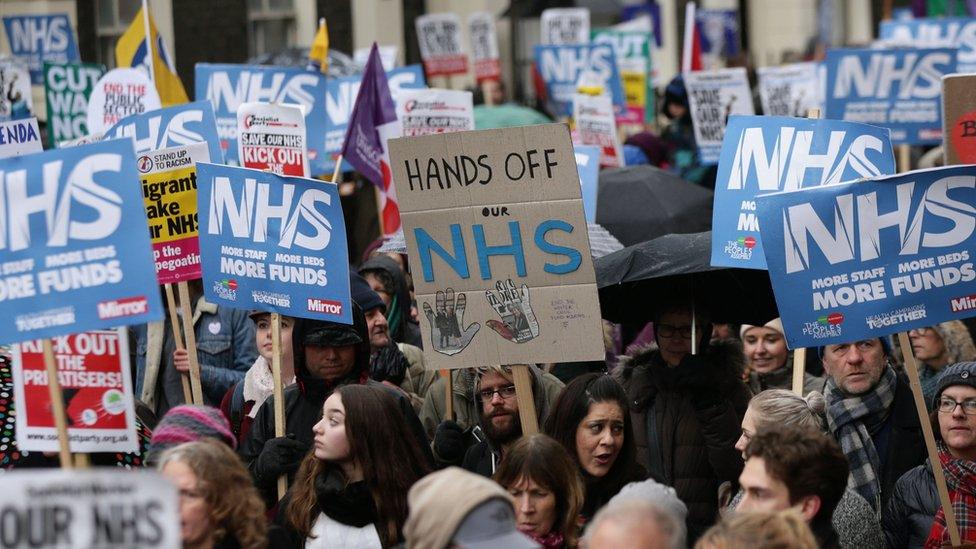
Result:
M345 385L325 401L315 446L282 501L295 546L390 547L402 541L407 492L428 467L393 395Z

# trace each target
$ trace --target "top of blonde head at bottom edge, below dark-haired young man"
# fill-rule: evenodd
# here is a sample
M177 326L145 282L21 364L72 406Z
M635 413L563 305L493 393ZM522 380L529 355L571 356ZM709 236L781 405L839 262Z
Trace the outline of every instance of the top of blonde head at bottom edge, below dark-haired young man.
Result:
M736 513L705 532L695 549L817 549L816 538L800 513Z

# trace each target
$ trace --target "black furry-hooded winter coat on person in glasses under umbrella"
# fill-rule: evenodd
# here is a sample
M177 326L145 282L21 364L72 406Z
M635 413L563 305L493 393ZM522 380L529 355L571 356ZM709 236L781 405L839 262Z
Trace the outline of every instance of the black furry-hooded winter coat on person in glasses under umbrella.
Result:
M689 543L715 523L718 487L738 481L742 456L735 441L751 393L739 379L742 350L729 343L709 346L669 368L656 348L639 351L613 373L630 401L637 460L674 487L688 506ZM648 440L648 411L657 440ZM661 468L651 462L659 451Z

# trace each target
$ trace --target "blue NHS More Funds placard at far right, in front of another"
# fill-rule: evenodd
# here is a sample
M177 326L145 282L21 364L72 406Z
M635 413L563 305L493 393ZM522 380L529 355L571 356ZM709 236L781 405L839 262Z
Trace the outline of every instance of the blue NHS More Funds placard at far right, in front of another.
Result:
M976 315L976 166L756 201L791 348Z

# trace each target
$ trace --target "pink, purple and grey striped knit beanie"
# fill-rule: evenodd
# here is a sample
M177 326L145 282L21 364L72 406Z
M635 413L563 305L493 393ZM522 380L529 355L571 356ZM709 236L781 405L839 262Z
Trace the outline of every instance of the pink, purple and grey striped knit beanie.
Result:
M146 449L146 460L151 463L169 448L203 438L217 439L231 448L237 448L237 439L230 429L230 423L217 408L192 404L170 408L153 430Z

